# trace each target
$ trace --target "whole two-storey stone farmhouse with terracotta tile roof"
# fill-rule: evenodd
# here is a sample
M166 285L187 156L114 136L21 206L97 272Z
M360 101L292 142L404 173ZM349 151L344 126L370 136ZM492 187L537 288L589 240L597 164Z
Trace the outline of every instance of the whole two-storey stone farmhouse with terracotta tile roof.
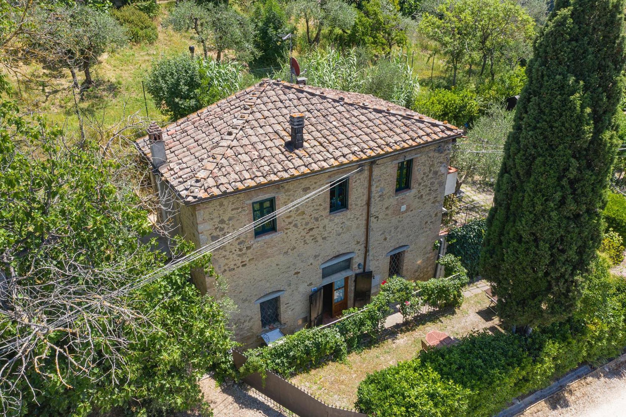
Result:
M363 306L389 275L433 277L449 152L462 134L370 95L265 79L151 125L137 145L162 220L196 247L330 187L213 252L239 307L235 338L254 345ZM217 291L202 272L193 279Z

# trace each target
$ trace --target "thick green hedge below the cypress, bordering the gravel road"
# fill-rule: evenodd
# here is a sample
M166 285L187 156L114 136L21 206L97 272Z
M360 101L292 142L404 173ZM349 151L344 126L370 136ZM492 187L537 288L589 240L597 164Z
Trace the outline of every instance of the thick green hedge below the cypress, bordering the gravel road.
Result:
M609 268L604 257L595 261L580 307L567 322L535 329L530 337L471 334L454 346L377 371L359 384L357 408L378 417L491 416L580 363L616 356L626 346L626 284L611 277ZM405 381L424 375L444 382L403 393ZM460 408L431 414L434 404L453 402Z

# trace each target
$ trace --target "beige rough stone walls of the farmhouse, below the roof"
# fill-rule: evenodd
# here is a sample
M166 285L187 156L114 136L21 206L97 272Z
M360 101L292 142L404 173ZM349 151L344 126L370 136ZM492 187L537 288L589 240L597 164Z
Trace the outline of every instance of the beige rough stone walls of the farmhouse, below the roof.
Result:
M443 197L448 173L450 142L380 158L371 164L371 212L366 269L373 273L372 295L387 278L391 250L404 251L402 274L408 279L433 277ZM411 188L396 193L398 163L413 159ZM275 197L276 209L303 197L357 168L342 168L208 200L180 213L183 235L206 245L252 222L252 203ZM365 262L367 190L370 163L349 178L346 210L329 213L329 192L305 202L277 218L277 231L255 238L250 231L212 255L217 274L228 284L228 296L239 307L232 315L235 339L259 344L264 331L260 306L266 294L279 296L280 328L292 333L309 323L309 295L322 285L320 265L337 255L354 252L351 269L361 272ZM195 272L202 291L213 294L213 279ZM354 275L347 286L347 307L354 306Z

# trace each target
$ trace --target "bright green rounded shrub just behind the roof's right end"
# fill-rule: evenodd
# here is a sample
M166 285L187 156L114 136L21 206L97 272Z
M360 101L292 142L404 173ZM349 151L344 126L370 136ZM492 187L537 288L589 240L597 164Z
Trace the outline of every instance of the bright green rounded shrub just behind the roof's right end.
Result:
M414 110L456 126L471 125L479 115L476 93L471 90L436 88L418 95Z

